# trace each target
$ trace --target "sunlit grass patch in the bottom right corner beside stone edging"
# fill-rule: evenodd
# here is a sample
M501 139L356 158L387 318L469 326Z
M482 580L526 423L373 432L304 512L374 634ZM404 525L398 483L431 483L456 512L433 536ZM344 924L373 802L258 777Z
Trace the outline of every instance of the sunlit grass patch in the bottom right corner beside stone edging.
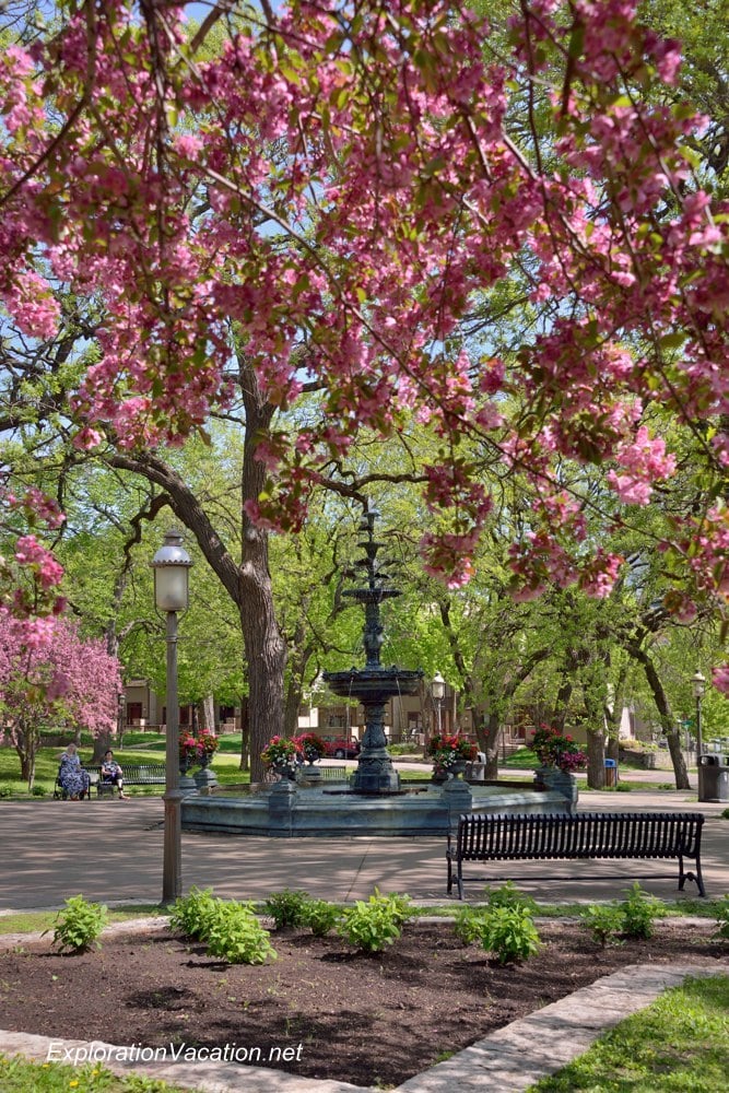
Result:
M530 1093L724 1093L728 1012L729 976L689 979Z

